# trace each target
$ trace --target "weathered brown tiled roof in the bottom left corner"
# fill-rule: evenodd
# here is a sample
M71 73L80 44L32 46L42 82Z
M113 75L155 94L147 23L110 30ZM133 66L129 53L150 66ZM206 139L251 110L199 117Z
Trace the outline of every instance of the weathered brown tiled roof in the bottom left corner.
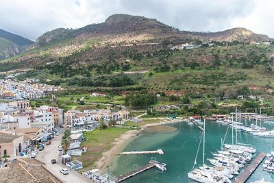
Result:
M44 165L44 163L31 158L15 160L7 169L0 169L0 182L60 183L61 181L49 173Z

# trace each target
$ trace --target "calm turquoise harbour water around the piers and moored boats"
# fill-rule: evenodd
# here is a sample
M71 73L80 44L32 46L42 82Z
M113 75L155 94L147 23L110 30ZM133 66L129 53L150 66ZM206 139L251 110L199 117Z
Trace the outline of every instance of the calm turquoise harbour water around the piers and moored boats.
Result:
M160 172L156 169L150 169L134 178L130 178L125 183L134 182L193 182L188 179L188 171L192 170L192 166L199 146L201 138L201 130L197 125L188 125L185 122L169 124L177 128L175 132L167 133L147 133L129 143L123 151L132 150L155 150L162 149L164 155L146 154L146 155L128 155L120 156L115 164L110 164L110 173L116 177L132 171L136 166L141 167L149 162L151 156L157 158L160 162L167 164L166 171ZM265 124L269 130L273 130L274 125ZM212 158L210 152L216 152L221 147L221 138L224 138L227 125L221 125L211 121L206 122L206 158ZM226 143L231 143L232 134L229 134ZM238 143L249 143L257 148L257 153L270 153L274 145L274 138L262 138L247 134L246 132L238 133ZM201 146L202 147L202 146ZM136 165L134 165L136 164ZM202 164L202 148L199 151L197 164L199 167ZM210 162L206 160L206 164ZM264 180L274 182L274 174L262 170L262 164L251 175L247 182L254 180Z

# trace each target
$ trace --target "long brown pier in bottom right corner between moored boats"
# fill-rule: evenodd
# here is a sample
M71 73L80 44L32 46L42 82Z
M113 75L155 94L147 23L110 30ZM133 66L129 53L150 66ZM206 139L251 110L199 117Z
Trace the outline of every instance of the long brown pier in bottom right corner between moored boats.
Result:
M266 154L260 153L252 162L249 164L247 169L242 171L240 175L235 179L234 183L244 183L247 181L247 179L252 175L252 173L258 168L258 166L261 164L262 160L264 160Z

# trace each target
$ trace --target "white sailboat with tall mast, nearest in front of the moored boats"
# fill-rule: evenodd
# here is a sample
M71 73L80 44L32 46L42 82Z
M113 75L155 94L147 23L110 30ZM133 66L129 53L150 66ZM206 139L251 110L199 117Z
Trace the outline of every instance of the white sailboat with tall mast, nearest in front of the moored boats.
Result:
M195 163L193 165L192 171L188 172L188 178L195 180L197 182L202 183L231 183L229 178L227 178L225 175L220 173L214 173L214 171L208 171L206 169L205 165L205 136L206 136L206 121L203 122L203 127L198 126L202 130L202 136L203 136L203 167L200 169L194 169L195 164L197 164L197 155L199 152L199 147L201 145L201 141L199 143L199 147L197 150L197 154L195 157Z

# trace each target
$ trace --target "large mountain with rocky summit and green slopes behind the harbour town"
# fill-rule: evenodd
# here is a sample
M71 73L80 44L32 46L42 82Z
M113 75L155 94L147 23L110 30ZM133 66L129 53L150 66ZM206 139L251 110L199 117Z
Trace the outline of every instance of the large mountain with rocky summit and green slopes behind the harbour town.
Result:
M31 69L18 79L38 77L82 90L185 95L272 88L274 48L263 44L269 40L243 28L184 32L155 19L116 14L104 23L47 32L32 49L0 62L0 71ZM185 43L199 47L182 49Z

